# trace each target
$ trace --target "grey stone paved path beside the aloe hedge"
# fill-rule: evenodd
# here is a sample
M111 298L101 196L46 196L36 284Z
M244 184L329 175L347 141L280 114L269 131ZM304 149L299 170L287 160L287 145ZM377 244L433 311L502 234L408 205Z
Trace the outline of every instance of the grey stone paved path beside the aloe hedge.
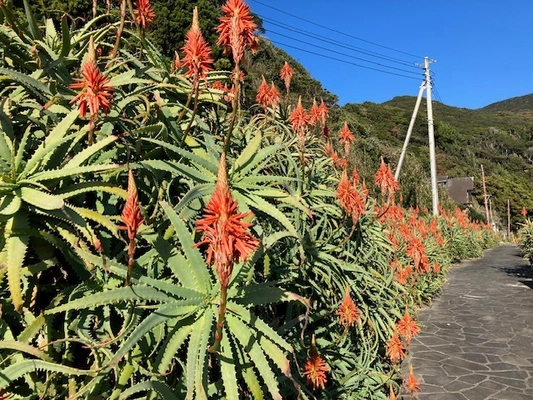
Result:
M533 399L533 269L510 244L452 267L419 312L413 364L420 400ZM403 396L407 400L408 396Z

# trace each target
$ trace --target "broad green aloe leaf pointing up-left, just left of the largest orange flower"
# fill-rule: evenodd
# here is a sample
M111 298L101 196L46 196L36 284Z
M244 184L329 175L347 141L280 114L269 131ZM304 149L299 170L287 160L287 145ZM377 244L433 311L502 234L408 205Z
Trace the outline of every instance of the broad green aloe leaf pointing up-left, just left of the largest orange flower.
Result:
M202 255L198 249L193 247L194 242L191 237L191 232L189 232L181 218L168 203L161 202L160 204L163 211L167 214L170 223L176 230L176 235L182 245L182 251L190 266L189 272L194 276L196 281L196 287L199 291L208 292L211 286L211 277Z

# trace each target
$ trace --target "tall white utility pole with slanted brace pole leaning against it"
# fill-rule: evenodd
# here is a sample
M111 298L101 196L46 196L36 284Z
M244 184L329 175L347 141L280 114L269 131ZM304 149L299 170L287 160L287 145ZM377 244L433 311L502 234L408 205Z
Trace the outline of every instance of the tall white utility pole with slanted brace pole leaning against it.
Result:
M439 192L437 188L437 162L435 155L435 132L433 127L433 106L431 103L431 73L429 71L429 64L434 63L434 60L430 60L428 57L424 57L424 81L420 85L420 90L418 92L418 97L416 98L415 109L409 122L409 128L407 129L407 135L405 137L405 142L403 144L402 153L400 154L400 160L398 161L398 166L396 167L396 172L394 177L396 180L399 180L400 170L402 168L403 160L405 158L405 153L407 152L407 145L411 139L411 133L413 131L413 126L416 119L416 114L418 113L418 108L420 107L420 101L422 100L422 93L426 91L426 101L427 101L427 115L428 115L428 137L429 137L429 162L431 165L431 200L433 204L433 215L439 215Z

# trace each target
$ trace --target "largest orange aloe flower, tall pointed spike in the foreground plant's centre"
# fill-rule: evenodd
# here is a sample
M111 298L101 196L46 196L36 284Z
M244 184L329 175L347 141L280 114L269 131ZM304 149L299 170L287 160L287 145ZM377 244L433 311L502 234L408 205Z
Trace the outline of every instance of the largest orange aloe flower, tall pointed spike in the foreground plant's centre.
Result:
M237 208L228 187L226 155L222 153L215 190L204 208L203 218L196 221L196 230L204 234L195 245L208 246L206 262L215 264L222 287L229 284L234 262L244 262L259 245L259 240L248 231L252 224L243 221L250 213L238 213Z

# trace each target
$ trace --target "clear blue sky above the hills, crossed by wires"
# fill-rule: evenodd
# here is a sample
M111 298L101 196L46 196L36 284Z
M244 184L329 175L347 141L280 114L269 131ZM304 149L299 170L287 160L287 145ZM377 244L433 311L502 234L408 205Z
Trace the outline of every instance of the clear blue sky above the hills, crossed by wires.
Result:
M415 64L425 56L436 60L433 97L444 104L475 109L533 93L532 0L247 3L263 17L266 37L338 95L341 105L416 96L423 72Z

